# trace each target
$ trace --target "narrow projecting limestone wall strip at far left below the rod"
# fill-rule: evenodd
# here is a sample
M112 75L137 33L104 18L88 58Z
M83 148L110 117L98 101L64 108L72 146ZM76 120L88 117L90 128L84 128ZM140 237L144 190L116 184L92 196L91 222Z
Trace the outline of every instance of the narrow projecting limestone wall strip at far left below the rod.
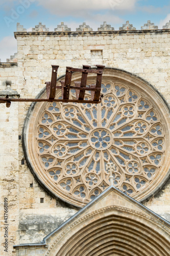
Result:
M18 103L7 109L1 104L0 115L0 179L1 179L1 255L12 255L12 246L19 242L19 161L18 161ZM8 206L4 209L4 200ZM7 204L8 203L8 204ZM4 251L5 238L8 252ZM9 246L10 245L10 246ZM9 254L8 254L9 253Z

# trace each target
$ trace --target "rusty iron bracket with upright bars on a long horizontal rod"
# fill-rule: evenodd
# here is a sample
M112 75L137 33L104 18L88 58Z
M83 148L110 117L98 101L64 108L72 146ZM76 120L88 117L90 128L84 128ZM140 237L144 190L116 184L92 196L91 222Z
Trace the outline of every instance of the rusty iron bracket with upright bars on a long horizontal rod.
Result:
M14 101L25 101L25 102L41 102L41 101L57 101L57 102L78 102L78 103L100 103L101 98L101 84L102 74L105 66L96 65L97 69L90 69L90 66L83 65L83 69L66 67L65 80L60 81L61 86L57 84L57 71L59 66L52 65L52 79L51 82L45 82L46 84L46 99L20 99L20 98L9 98L8 95L5 98L0 98L0 103L6 103L7 108L10 107L11 102ZM75 81L75 86L71 86L72 72L82 72L81 81ZM87 85L88 73L96 74L96 84ZM55 99L56 89L61 89L62 99ZM76 99L69 99L70 89L76 90ZM91 100L85 100L85 91L91 92Z

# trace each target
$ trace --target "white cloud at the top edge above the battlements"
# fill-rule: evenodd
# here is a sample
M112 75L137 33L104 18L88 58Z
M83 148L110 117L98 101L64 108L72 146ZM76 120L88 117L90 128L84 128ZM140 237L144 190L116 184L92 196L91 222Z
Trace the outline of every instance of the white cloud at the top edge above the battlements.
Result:
M59 16L84 17L90 12L104 10L132 10L137 0L37 0L40 6Z

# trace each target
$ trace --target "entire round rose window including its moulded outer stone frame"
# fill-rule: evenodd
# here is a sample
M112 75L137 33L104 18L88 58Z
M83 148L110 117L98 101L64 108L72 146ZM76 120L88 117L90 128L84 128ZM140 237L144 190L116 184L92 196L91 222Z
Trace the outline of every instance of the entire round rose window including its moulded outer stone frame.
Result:
M88 82L94 79L91 74ZM72 82L78 80L80 74L74 73ZM78 208L109 186L107 162L116 165L114 185L140 202L169 177L165 100L147 81L110 68L103 74L102 93L98 105L32 104L23 129L34 176L54 197ZM38 97L45 97L44 90Z

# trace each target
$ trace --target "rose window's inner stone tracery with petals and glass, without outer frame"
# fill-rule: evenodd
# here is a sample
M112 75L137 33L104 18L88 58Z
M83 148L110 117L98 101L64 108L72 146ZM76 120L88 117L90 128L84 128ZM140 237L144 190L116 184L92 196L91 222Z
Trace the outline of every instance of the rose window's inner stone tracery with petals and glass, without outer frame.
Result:
M124 84L103 82L102 93L101 104L50 102L38 120L41 168L73 201L88 203L110 185L107 162L114 186L132 197L161 172L165 134L154 106Z

